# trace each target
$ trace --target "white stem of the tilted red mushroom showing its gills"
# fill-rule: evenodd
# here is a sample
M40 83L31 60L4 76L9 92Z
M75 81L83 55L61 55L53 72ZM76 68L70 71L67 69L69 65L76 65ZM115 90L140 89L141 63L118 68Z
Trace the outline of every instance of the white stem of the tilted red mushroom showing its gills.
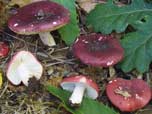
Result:
M69 98L70 103L80 104L83 98L83 94L86 87L83 84L76 84L71 97Z

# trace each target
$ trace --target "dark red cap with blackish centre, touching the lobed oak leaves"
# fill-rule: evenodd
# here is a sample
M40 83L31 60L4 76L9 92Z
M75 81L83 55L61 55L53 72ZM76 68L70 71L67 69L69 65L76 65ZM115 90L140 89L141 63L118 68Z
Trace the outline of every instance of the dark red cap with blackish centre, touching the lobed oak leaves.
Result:
M123 58L124 50L116 38L92 33L82 35L76 40L73 53L85 64L108 67Z

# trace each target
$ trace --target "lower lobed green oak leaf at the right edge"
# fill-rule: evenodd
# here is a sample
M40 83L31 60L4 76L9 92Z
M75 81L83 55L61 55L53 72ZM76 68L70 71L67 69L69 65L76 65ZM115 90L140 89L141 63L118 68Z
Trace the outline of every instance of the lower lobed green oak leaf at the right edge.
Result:
M147 16L145 22L137 21L133 26L136 32L126 34L121 44L125 49L125 58L121 68L125 72L137 69L143 73L148 71L152 62L152 17Z

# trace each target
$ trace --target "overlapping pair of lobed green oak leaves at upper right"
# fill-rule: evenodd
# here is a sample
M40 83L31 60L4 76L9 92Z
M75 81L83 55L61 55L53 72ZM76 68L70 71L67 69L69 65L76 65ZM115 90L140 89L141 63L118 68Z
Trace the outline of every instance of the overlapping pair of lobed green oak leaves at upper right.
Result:
M87 17L88 25L95 31L109 34L124 32L128 25L135 31L123 36L121 44L125 58L120 66L123 71L137 69L143 73L152 61L152 6L144 0L133 0L127 6L116 6L112 0L98 5Z

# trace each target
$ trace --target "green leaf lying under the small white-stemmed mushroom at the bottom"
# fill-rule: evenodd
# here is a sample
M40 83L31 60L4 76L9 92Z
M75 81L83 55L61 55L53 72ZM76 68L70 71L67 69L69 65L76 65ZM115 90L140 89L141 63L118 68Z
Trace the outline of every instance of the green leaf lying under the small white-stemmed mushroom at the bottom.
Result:
M89 98L84 98L79 108L72 108L68 105L69 92L51 85L48 86L48 91L58 97L63 102L63 107L72 114L118 114L108 106Z

